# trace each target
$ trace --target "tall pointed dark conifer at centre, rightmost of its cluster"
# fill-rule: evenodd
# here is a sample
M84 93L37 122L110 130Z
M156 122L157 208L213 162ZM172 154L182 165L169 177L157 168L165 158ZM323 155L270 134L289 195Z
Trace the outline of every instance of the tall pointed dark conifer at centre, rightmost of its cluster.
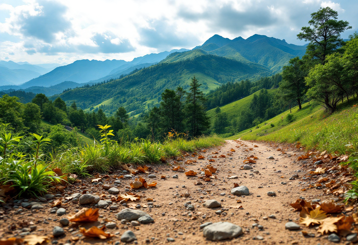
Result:
M210 119L205 112L205 97L199 89L200 85L194 76L185 101L187 126L193 137L203 134L210 127Z

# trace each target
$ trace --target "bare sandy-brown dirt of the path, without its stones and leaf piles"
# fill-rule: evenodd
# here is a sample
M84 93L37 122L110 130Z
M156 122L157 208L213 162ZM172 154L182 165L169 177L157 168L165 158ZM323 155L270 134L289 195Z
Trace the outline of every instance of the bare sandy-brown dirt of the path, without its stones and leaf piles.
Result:
M184 164L184 161L178 162L186 170L194 170L198 172L198 176L202 176L200 172L202 168L209 164L208 158L215 159L215 162L211 162L211 164L217 168L216 174L213 174L216 179L212 179L210 182L198 179L198 176L185 176L184 172L174 172L171 170L173 167L165 164L152 165L153 172L150 174L156 175L153 180L158 184L155 188L138 189L137 194L143 197L135 204L140 203L142 206L140 210L153 217L154 223L141 224L136 227L132 227L129 223L121 224L120 220L116 219L116 214L125 207L117 203L116 205L119 207L117 210L112 211L108 208L106 210L100 208L101 216L96 224L100 225L100 222L104 224L108 220L115 222L117 228L107 229L107 232L116 234L116 237L105 241L80 237L78 241L73 241L76 240L73 237L81 236L82 234L78 232L76 226L71 226L70 224L70 226L64 227L65 235L57 238L52 237L52 241L57 240L58 244L83 244L87 242L105 244L107 241L110 244L115 244L120 241L120 236L124 231L132 230L136 234L138 244L148 244L148 241L149 244L213 244L215 242L208 241L203 237L203 232L199 229L199 226L204 222L227 221L240 225L244 230L244 234L233 240L217 242L219 244L318 244L319 242L321 244L330 244L331 242L326 239L326 235L307 238L303 237L300 232L305 230L308 233L315 233L314 229L285 230L286 222L292 220L298 223L299 220L299 213L293 212L289 203L294 202L301 196L305 197L306 200L322 199L323 194L321 190L314 188L306 192L300 190L308 186L310 182L300 183L302 180L298 178L289 180L293 174L299 174L300 176L300 172L297 172L297 170L301 170L299 164L294 162L294 159L297 159L294 154L297 152L284 149L286 154L282 154L281 151L277 151L277 148L270 147L268 144L255 143L258 147L254 147L254 143L249 141L241 142L242 145L240 146L233 140L227 140L227 143L221 147L208 149L207 152L198 152L204 156L204 159L198 159L197 156L185 157L184 161L197 160L197 163L194 164ZM240 148L236 146L240 146ZM231 149L234 149L235 152L232 152ZM212 152L216 151L218 154L212 154ZM226 155L226 158L211 158L221 154ZM253 169L241 169L240 165L243 165L243 160L250 155L258 158L256 163L252 164ZM267 159L270 156L275 159ZM173 163L173 160L171 160L171 163ZM253 172L256 172L256 170L258 170L258 173ZM172 178L175 174L178 174L178 178ZM151 182L151 179L147 177L148 175L137 174L136 177L141 176L146 178L147 182ZM160 176L162 175L167 177L161 179ZM237 176L238 178L229 178L229 176ZM115 179L110 181L103 179L104 184L110 184L111 186L113 186L114 181ZM122 185L118 189L120 189L120 193L124 193L125 188L129 186L132 180L120 179L120 181ZM197 182L202 182L203 185L195 185ZM248 187L250 195L232 195L230 191L234 188L234 182L240 186ZM82 181L83 183L85 182ZM83 189L87 189L90 193L98 196L105 194L106 197L102 199L108 200L111 197L101 186L92 185L90 180L85 185L75 185L66 194L82 192ZM268 196L267 192L269 191L276 192L276 196ZM185 197L185 193L189 193L189 196ZM146 198L153 198L154 201L147 202ZM203 202L210 199L221 202L222 208L203 207ZM241 200L241 203L237 203L237 200ZM184 206L189 201L195 208L192 211L186 210ZM59 219L65 216L50 213L50 203L44 202L42 205L43 209L28 210L23 208L20 213L15 208L3 209L1 211L3 213L0 213L2 215L0 216L2 218L0 219L0 235L9 237L26 231L26 229L21 230L19 225L17 227L15 225L13 230L9 228L13 224L18 224L21 220L26 220L28 222L32 221L37 226L34 231L30 231L31 234L52 236L53 227L61 226ZM238 208L239 206L242 206L242 208ZM74 203L64 206L67 213L81 209L81 207L83 206ZM222 210L222 213L217 214L216 211L218 210ZM269 218L270 215L274 215L275 218ZM262 225L263 229L259 230L257 227L253 227L252 225L255 223ZM173 238L175 241L169 242L168 237Z

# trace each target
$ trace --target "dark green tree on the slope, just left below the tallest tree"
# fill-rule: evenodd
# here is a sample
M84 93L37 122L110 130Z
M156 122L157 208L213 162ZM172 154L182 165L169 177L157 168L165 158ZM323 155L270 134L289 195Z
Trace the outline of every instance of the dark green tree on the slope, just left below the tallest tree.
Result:
M288 100L296 100L299 110L301 110L301 101L306 89L304 78L307 72L299 57L291 59L289 63L289 66L282 68L282 81L279 88Z

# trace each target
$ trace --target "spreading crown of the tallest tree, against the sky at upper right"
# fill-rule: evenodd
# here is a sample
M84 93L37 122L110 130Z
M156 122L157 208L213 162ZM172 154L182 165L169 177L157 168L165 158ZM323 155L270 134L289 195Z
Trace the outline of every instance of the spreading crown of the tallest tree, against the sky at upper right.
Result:
M337 16L337 11L329 7L320 8L311 14L310 26L302 27L302 32L297 35L298 39L310 42L306 54L311 59L318 59L321 64L325 63L327 55L344 44L340 33L352 28L348 21L337 20Z

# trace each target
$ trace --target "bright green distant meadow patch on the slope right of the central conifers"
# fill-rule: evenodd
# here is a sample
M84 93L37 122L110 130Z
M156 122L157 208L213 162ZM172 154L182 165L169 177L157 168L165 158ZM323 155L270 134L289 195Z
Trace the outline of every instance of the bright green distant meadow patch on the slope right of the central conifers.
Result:
M267 90L268 93L273 94L275 93L277 90L275 89L270 89ZM253 95L260 93L260 91L257 91L255 93L253 93L252 95L246 96L240 100L231 102L229 104L226 104L224 106L221 106L221 112L226 112L228 117L237 117L238 115L240 115L242 110L247 109L250 106L250 103L252 101ZM215 108L211 109L207 112L208 116L210 116L211 118L214 117L215 115Z

